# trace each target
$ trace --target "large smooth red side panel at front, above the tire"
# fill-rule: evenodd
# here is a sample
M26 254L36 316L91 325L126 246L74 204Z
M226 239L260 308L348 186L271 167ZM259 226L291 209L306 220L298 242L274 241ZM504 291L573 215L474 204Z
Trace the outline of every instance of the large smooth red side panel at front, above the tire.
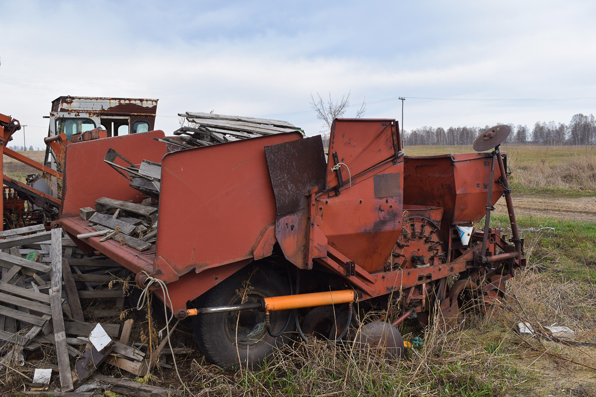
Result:
M252 258L275 224L265 146L297 139L275 134L164 156L156 263L181 275Z

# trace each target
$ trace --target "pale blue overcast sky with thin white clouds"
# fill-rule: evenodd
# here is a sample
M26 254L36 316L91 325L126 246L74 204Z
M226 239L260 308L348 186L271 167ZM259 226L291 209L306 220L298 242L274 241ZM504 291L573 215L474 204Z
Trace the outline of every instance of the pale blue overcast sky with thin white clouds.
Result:
M159 99L166 134L213 110L315 135L317 92L398 120L405 96L406 130L596 113L594 1L0 0L0 15L0 113L27 146L61 95Z

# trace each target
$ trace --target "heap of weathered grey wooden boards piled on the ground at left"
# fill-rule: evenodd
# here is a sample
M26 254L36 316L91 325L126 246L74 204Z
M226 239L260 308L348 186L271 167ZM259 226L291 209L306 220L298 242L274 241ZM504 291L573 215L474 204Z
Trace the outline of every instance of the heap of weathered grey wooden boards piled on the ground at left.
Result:
M112 208L111 204L101 201L97 205ZM151 219L151 214L145 215ZM130 340L132 319L123 323L122 332L120 324L89 321L105 317L101 311L116 318L122 314L122 285L130 276L128 270L103 257L84 258L73 241L63 236L62 229L46 232L43 225L0 232L0 249L0 368L11 378L5 379L5 385L14 385L20 378L31 386L24 394L55 394L45 391L53 368L60 375L54 377L54 383L59 379L58 391L63 396L92 395L73 393L79 386L131 395L172 395L170 389L95 373L105 363L124 373L145 376L159 364L163 354L165 339L150 355L142 348L144 345L135 347ZM118 283L121 286L114 288ZM97 310L97 302L104 304L105 298L117 299L116 306L121 308ZM96 303L83 311L82 302ZM52 346L57 366L48 361L48 345ZM36 368L33 380L21 365ZM38 370L47 374L42 384L36 383L41 379ZM4 393L1 385L0 392Z

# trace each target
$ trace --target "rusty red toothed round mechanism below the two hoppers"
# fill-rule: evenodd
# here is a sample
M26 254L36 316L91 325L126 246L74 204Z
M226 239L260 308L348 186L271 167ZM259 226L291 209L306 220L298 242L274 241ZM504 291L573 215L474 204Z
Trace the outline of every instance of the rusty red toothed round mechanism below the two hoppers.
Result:
M403 220L402 234L393 247L386 270L426 267L445 262L439 229L423 217Z

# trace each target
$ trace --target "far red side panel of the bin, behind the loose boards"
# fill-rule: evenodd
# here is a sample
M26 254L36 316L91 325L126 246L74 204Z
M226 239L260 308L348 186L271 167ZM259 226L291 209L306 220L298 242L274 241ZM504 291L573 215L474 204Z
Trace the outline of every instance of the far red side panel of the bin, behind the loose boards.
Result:
M79 208L94 207L95 200L100 197L134 202L145 198L141 192L128 186L128 179L104 162L104 156L111 148L134 164L141 164L143 160L161 162L166 154L166 145L157 142L154 137L164 137L163 131L89 140L66 146L60 217L78 217Z

